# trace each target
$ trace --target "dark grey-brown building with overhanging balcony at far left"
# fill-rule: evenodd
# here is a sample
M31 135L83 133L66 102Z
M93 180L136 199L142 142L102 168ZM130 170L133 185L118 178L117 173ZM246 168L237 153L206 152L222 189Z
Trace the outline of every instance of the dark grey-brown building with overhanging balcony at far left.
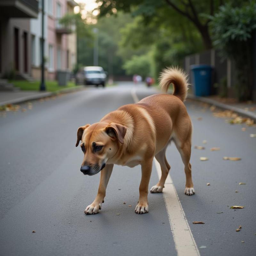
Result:
M0 0L0 77L30 74L29 19L37 15L37 0Z

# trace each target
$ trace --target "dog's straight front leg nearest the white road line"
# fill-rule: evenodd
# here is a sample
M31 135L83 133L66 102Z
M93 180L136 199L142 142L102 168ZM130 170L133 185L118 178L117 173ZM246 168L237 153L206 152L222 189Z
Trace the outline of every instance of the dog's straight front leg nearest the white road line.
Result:
M148 212L148 183L152 171L153 157L145 159L141 163L140 198L135 208L138 214Z

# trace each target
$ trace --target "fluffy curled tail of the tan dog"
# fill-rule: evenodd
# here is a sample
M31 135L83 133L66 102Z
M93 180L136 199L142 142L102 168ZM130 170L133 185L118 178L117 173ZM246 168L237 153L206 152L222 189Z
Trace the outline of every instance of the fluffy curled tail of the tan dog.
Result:
M188 92L188 75L180 68L165 68L159 77L159 86L167 92L169 85L173 84L174 90L172 95L178 97L180 100L185 101Z

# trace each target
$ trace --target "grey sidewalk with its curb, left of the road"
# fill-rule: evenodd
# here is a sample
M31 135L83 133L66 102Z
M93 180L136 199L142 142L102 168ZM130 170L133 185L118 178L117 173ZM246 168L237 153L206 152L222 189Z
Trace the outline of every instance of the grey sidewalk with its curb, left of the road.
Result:
M58 93L68 93L74 91L80 91L84 89L83 85L79 85L71 88L64 88L56 92L37 92L37 91L19 91L19 92L0 92L0 106L6 104L18 104L28 100L37 100Z

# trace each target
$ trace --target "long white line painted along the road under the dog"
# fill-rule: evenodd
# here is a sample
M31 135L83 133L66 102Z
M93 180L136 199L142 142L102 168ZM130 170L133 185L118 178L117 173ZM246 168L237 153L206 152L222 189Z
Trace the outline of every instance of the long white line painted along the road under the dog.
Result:
M131 90L132 98L135 103L139 101L135 88ZM161 166L154 158L159 179L161 178ZM200 256L195 239L188 225L188 220L180 204L177 191L173 185L170 173L164 184L164 201L168 213L173 240L178 256Z

